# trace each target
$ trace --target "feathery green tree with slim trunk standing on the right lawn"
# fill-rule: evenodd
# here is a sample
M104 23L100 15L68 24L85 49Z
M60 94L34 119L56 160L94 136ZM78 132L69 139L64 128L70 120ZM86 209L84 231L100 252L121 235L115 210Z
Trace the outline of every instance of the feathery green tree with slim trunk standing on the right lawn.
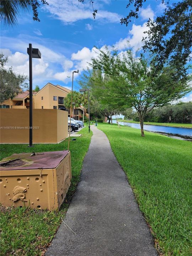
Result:
M121 102L121 105L124 101L127 107L135 108L142 137L143 119L148 112L190 91L186 78L178 78L174 67L164 66L161 70L155 70L151 63L144 54L135 56L132 49L118 54L116 49L111 51L107 47L100 49L98 57L93 58L91 63L93 68L108 76L109 81L105 83L108 97Z

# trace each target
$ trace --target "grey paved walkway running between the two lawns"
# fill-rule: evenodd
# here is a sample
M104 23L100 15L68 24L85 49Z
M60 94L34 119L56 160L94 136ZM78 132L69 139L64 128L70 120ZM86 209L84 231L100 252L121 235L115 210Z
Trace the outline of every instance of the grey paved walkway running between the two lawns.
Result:
M106 135L93 136L81 179L46 256L157 256L148 225ZM129 157L129 156L127 156Z

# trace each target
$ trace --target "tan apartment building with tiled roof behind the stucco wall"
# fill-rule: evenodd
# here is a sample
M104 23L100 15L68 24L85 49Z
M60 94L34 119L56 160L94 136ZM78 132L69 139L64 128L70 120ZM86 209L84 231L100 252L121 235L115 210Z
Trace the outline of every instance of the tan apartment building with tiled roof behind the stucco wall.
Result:
M46 84L38 92L33 92L33 108L35 109L59 109L65 108L64 98L71 90L51 83ZM0 108L29 108L29 92L25 91L18 94L12 100L6 100L1 103ZM68 116L70 112L68 109ZM72 113L73 114L73 113ZM74 110L75 119L79 120L83 116L83 107Z

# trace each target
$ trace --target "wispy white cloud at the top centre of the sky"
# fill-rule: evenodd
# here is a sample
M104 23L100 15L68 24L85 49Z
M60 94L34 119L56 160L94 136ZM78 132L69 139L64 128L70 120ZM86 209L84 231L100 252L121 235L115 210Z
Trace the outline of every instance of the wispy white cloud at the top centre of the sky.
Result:
M121 16L115 12L108 12L102 10L102 5L99 2L94 3L97 7L100 6L98 13L96 14L96 20L105 22L120 22ZM97 9L94 6L95 9ZM73 23L79 20L91 19L92 6L88 1L79 3L78 1L59 1L49 0L49 5L43 6L43 10L50 12L53 18L61 20L64 24Z

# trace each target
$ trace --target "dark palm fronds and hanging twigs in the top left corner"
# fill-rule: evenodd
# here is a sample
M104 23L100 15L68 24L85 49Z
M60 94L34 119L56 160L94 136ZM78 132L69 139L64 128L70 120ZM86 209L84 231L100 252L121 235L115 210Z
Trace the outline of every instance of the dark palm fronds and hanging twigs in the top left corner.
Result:
M41 0L42 4L47 4L46 0ZM38 8L40 7L38 0L6 0L0 1L0 21L5 26L13 26L17 24L17 16L21 11L33 11L33 20L40 21L38 18Z

